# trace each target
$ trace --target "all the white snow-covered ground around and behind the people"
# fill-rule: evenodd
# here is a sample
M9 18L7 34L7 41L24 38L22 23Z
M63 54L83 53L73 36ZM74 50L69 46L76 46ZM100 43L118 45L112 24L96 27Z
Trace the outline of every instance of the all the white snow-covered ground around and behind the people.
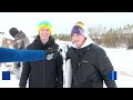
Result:
M62 47L65 42L57 40L57 43ZM103 49L106 51L114 70L117 71L117 88L133 88L133 50L126 50L125 48ZM0 67L0 88L19 88L19 80L13 74L11 74L11 80L2 80L2 71L6 70L9 69L6 69L4 64L2 64ZM105 84L104 88L106 88Z

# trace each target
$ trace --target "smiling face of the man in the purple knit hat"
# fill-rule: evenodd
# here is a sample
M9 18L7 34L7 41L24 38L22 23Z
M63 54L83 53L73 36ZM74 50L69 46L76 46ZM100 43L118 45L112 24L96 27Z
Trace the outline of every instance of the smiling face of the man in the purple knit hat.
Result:
M74 43L78 48L81 48L82 44L83 44L84 41L85 41L85 37L82 36L82 34L79 34L79 33L73 33L73 34L72 34L72 41L73 41L73 43Z

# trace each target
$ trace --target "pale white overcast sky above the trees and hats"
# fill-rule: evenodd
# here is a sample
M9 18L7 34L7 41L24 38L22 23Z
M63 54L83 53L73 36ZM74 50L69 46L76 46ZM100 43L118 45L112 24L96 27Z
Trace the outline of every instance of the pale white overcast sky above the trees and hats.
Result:
M42 20L52 24L54 33L70 33L78 21L88 27L101 24L108 29L133 24L133 12L0 12L0 31L9 36L9 29L17 27L29 37L35 36Z

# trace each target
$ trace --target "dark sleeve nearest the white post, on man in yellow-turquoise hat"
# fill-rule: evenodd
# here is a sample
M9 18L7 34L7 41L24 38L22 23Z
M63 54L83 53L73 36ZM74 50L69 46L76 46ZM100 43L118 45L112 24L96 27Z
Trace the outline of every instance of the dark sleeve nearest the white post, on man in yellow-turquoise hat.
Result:
M55 58L57 61L57 79L58 79L58 88L63 88L63 57L61 53Z

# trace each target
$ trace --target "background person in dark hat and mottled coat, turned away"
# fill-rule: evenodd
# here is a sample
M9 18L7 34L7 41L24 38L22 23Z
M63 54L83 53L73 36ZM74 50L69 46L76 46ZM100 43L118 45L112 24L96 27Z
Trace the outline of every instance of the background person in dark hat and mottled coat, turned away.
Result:
M23 50L30 43L29 39L27 38L23 31L19 31L17 28L11 28L9 33L14 38L12 42L12 47L14 49ZM17 79L20 79L21 74L21 62L14 62L13 64L13 72L17 76Z

